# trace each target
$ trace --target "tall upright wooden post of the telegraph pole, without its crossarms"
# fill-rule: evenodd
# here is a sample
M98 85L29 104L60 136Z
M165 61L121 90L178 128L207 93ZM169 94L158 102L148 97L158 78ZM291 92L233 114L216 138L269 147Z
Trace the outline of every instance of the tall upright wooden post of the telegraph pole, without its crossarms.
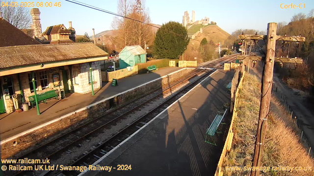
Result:
M256 143L253 157L253 167L260 167L262 161L262 151L264 147L264 140L267 129L267 116L269 112L270 104L270 93L273 83L273 71L275 62L275 49L276 49L276 32L277 23L270 22L267 27L267 47L266 57L263 59L265 67L263 69L263 80L262 80L262 95L260 105L260 115L258 122L258 129L256 135ZM260 171L251 172L251 176L259 176Z

